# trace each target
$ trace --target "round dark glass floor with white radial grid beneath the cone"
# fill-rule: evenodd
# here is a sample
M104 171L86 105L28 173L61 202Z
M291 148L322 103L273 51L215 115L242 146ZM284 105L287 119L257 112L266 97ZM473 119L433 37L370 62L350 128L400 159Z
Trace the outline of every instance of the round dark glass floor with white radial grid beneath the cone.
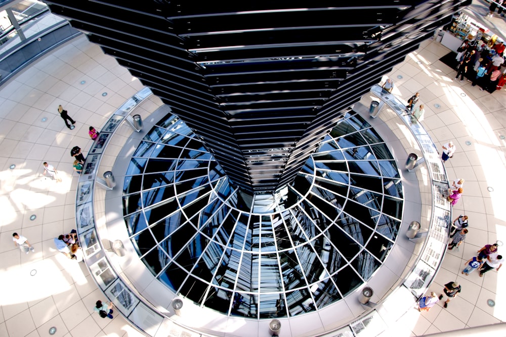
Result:
M174 115L141 141L123 185L126 228L147 268L199 306L252 319L346 297L385 261L402 210L393 156L353 111L274 195L234 188Z

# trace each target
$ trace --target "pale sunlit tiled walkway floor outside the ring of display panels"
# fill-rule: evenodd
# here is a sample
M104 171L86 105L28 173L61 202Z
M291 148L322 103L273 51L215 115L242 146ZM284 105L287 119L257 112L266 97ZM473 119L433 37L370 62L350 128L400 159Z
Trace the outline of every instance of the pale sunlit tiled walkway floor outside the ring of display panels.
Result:
M442 301L428 313L413 308L389 327L395 333L385 335L423 335L506 320L506 290L497 286L506 281L506 270L482 278L477 272L460 274L484 244L506 240L506 141L501 139L506 136L506 91L488 94L467 81L455 81L455 72L438 61L446 53L439 43L426 41L389 76L400 98L420 93L426 107L422 123L437 146L448 140L457 146L446 167L450 179L466 180L454 216L469 216L470 233L458 250L446 255L431 290L440 293L442 284L456 280L462 292L447 309ZM53 244L54 237L75 226L77 175L70 149L77 145L86 154L89 126L102 127L141 88L83 36L0 88L0 336L46 336L53 326L56 336L141 335L119 314L109 320L94 313L95 302L104 296L86 267L68 260ZM57 115L59 104L76 120L74 130ZM41 175L43 161L58 168L61 183ZM14 247L13 232L26 236L35 252L25 255ZM506 254L506 247L499 250ZM495 307L487 305L489 299Z

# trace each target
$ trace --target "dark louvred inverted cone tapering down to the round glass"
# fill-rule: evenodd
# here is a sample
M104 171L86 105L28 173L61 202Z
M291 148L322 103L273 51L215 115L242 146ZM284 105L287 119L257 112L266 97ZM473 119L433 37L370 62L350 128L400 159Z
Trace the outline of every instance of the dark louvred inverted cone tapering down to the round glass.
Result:
M471 0L44 2L259 194L291 184L341 112Z

